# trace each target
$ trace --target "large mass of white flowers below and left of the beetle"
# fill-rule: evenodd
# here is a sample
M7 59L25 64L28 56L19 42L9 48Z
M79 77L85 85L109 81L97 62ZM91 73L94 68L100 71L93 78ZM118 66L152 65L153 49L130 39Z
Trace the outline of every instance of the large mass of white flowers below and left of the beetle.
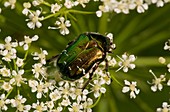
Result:
M101 65L94 72L93 79L84 90L84 84L89 80L89 74L74 82L48 79L46 69L46 50L32 53L32 61L28 50L38 36L24 36L21 42L12 41L11 37L5 38L5 43L0 44L0 111L16 109L20 112L92 112L95 101L106 92L106 85L111 84L111 76ZM23 57L18 56L17 49L25 51ZM15 52L14 52L15 51ZM6 52L6 53L4 53ZM12 55L12 56L11 56ZM28 60L29 57L29 60ZM114 60L108 56L109 65L113 66ZM113 62L113 63L112 63ZM28 68L30 67L30 69ZM90 96L93 95L93 98Z

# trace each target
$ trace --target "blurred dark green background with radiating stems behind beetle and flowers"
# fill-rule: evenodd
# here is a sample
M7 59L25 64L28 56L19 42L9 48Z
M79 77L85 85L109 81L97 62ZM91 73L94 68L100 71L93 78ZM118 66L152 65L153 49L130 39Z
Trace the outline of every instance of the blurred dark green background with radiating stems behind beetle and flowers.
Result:
M0 5L2 6L2 4ZM78 7L80 10L95 11L98 9L95 4L88 4L86 9ZM57 18L42 21L43 27L31 30L27 27L24 15L21 13L22 4L17 3L14 10L4 9L0 14L0 42L6 36L23 40L24 35L39 35L39 40L33 43L32 51L39 48L46 49L48 58L60 53L68 42L84 32L99 32L114 34L116 49L112 56L122 55L124 52L137 56L136 68L128 73L116 72L117 68L110 68L111 75L123 84L123 80L137 81L141 92L136 99L130 99L128 94L121 92L122 87L114 80L107 86L107 92L102 96L94 112L155 112L156 108L162 106L162 102L169 101L168 87L161 92L153 93L147 81L153 79L148 72L152 69L159 77L160 74L169 73L166 66L158 63L158 57L164 56L169 60L168 51L164 51L164 43L170 38L170 4L165 4L162 8L155 5L139 14L130 11L130 14L106 13L101 18L96 15L74 14L77 21L71 20L72 26L69 28L70 34L63 36L58 30L49 30L48 26L53 26ZM169 60L170 62L170 60Z

